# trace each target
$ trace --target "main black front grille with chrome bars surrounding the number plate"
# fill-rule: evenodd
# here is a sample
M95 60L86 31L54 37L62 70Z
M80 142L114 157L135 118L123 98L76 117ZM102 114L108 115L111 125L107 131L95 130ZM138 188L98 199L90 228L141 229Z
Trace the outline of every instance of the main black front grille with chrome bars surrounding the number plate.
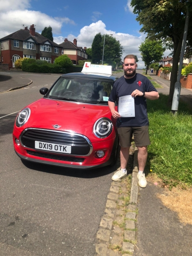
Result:
M70 155L90 155L91 142L82 135L54 130L27 128L20 136L23 146L35 149L35 141L71 146ZM36 149L37 150L37 149Z

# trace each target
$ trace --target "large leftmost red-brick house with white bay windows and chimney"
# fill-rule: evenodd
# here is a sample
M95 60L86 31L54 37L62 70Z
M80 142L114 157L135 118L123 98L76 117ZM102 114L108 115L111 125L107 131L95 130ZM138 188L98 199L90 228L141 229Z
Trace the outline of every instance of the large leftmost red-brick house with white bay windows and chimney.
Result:
M60 45L35 32L34 24L29 29L20 29L0 39L1 63L14 67L16 60L27 57L53 63L61 55Z

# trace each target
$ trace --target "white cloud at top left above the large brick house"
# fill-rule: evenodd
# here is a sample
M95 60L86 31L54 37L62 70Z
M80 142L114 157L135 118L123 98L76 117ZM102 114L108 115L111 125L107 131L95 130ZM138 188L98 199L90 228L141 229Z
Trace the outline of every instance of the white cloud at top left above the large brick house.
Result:
M53 34L60 34L63 23L75 25L67 17L51 17L39 11L30 11L30 0L0 0L0 38L11 34L21 28L36 25L36 31L41 33L44 27L51 26Z

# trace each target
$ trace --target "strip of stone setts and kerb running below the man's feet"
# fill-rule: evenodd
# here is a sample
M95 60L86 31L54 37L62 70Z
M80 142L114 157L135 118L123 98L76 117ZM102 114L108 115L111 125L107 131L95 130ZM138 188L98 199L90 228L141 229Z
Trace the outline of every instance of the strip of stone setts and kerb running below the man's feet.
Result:
M128 256L134 252L136 246L135 222L137 216L138 200L138 148L134 148L134 160L132 168L132 182L130 201L124 205L122 196L126 196L128 190L123 180L112 182L110 192L107 195L106 209L99 224L96 235L95 256ZM120 167L117 169L119 170ZM117 171L116 170L116 171ZM121 195L119 195L121 191Z

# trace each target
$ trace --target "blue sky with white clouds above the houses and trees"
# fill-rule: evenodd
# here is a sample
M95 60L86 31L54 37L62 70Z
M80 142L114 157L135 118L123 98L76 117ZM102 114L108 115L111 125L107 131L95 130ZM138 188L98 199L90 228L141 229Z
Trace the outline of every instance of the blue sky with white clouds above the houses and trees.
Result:
M122 59L127 54L137 55L138 68L144 68L139 45L146 34L130 6L131 0L0 0L0 38L23 27L35 25L40 33L51 26L53 41L60 44L67 38L77 46L91 47L94 36L113 34L124 48ZM104 48L105 51L105 48ZM170 52L166 51L164 56Z

